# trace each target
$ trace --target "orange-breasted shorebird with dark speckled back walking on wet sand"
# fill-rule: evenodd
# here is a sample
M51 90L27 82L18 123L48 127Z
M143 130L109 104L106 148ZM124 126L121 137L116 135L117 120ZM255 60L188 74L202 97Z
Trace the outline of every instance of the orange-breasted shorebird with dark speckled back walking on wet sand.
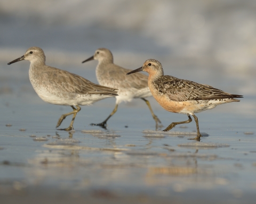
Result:
M162 64L154 59L147 60L143 66L127 74L141 71L148 72L148 87L159 105L166 111L188 116L187 121L173 122L163 131L169 131L178 124L190 123L191 115L197 128L197 137L193 138L194 140L201 138L198 118L194 113L215 108L220 104L239 102L240 100L235 98L243 98L242 95L229 94L206 84L164 75Z

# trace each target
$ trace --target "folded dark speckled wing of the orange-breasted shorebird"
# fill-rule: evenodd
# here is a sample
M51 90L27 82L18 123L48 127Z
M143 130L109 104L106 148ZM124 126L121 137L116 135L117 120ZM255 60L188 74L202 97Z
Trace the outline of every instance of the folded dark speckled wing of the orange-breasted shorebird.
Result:
M206 84L181 80L167 75L158 78L154 84L160 93L167 95L170 100L174 101L243 98L241 95L232 95Z

